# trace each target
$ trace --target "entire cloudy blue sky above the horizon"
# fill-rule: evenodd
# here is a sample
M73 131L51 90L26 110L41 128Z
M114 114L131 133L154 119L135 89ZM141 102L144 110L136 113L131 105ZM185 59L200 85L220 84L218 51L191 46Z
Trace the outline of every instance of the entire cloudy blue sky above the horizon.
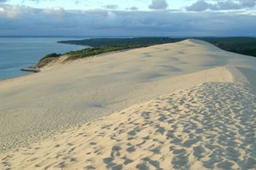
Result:
M256 37L256 0L0 0L0 35Z

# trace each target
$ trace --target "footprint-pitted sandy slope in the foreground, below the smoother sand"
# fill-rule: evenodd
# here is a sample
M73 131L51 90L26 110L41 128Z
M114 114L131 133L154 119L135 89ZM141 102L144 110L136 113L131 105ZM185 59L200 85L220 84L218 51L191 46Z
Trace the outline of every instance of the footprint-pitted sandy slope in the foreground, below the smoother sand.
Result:
M203 83L0 155L0 168L255 169L255 103L254 85Z

